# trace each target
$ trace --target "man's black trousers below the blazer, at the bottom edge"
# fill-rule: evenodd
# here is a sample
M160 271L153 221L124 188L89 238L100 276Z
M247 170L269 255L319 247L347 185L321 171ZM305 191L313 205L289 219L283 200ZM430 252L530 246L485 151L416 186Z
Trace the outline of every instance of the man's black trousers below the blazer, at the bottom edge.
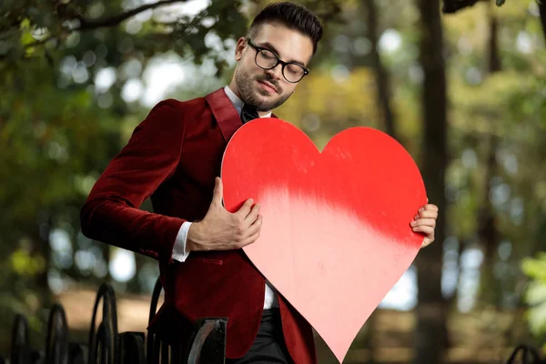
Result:
M243 358L226 359L226 364L292 364L282 334L278 308L264 310L258 336Z

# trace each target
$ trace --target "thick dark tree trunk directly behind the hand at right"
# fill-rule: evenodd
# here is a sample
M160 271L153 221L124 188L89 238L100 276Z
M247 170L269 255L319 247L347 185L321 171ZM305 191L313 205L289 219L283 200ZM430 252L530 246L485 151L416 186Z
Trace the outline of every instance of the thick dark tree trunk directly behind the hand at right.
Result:
M443 242L445 238L445 172L448 166L446 73L440 2L418 0L420 9L420 63L423 67L422 90L423 150L421 173L430 203L440 209L436 242L422 249L418 258L419 305L416 309L414 362L441 363L448 347L446 318L448 305L441 293Z

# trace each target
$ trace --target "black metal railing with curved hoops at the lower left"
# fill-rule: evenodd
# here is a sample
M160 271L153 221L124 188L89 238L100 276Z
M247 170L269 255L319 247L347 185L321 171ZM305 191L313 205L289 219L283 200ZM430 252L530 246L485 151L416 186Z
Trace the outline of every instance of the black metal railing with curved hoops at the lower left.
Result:
M162 292L157 278L150 302L148 322L154 319ZM101 318L97 317L102 301ZM117 331L116 294L103 284L96 293L95 307L86 343L70 342L65 309L56 304L47 321L44 348L32 348L28 321L16 315L12 329L10 364L220 364L226 357L225 318L204 318L187 350L171 346L153 333ZM0 364L6 360L0 357Z

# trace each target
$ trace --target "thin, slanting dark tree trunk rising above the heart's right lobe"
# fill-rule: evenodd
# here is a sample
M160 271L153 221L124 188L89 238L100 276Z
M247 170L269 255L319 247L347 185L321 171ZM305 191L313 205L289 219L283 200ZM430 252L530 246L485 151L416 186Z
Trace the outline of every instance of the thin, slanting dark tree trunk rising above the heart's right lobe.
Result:
M389 74L387 73L381 57L379 56L378 35L378 11L375 0L363 0L363 7L367 15L368 39L371 43L371 61L376 76L378 104L385 125L385 131L389 136L398 140L395 129L394 114L390 106Z

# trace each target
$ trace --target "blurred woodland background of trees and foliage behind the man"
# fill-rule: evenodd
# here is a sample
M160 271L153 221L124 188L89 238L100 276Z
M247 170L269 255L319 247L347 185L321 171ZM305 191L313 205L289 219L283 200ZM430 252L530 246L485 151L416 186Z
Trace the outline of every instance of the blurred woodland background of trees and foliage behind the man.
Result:
M501 363L519 343L546 349L546 4L298 3L326 33L276 114L320 148L350 126L389 133L440 207L437 241L345 362ZM146 330L156 261L83 237L79 209L152 106L227 85L236 41L266 4L0 2L0 354L16 313L43 346L55 302L86 340L102 282L119 330ZM334 363L317 342L319 362Z

